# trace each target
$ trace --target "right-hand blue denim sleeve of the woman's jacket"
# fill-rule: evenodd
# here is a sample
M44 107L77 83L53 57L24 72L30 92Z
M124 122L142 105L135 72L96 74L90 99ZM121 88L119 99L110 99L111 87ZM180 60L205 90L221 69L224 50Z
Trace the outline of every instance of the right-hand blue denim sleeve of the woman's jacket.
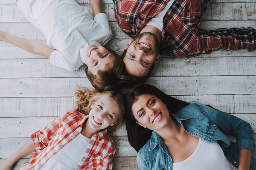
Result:
M253 129L249 123L236 116L217 111L208 106L202 104L195 105L201 110L201 113L215 123L224 134L236 136L236 145L239 150L248 148L254 152Z

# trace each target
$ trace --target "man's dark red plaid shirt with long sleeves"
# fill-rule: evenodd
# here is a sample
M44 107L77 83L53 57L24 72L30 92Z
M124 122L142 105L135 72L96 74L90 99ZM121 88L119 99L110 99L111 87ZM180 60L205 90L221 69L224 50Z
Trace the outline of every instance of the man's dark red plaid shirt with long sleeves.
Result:
M114 17L120 28L135 38L149 20L169 0L113 0ZM253 28L201 30L201 21L209 0L175 0L163 18L160 53L172 57L192 57L212 50L256 49Z

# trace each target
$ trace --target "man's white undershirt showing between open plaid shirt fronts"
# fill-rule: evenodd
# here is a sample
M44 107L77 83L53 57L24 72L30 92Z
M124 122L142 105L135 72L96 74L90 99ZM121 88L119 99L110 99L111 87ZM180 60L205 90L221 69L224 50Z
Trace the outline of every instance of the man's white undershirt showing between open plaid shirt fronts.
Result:
M154 18L152 18L147 25L157 27L160 31L163 30L163 17L168 11L168 9L172 6L174 0L169 0L166 6L160 11Z

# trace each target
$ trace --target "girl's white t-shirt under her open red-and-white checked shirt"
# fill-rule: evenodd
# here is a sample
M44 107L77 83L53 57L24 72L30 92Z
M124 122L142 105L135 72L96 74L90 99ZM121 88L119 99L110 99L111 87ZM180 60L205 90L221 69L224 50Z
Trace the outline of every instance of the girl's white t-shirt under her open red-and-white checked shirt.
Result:
M79 133L76 138L52 156L40 170L75 170L90 139Z

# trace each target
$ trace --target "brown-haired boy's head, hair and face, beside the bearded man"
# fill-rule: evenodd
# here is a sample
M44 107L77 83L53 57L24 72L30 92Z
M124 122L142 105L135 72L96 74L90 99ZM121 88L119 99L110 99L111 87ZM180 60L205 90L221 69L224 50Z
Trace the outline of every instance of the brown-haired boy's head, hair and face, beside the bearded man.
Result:
M118 90L120 87L133 86L131 78L124 74L125 66L121 57L115 51L95 45L89 45L87 48L84 70L96 91Z

